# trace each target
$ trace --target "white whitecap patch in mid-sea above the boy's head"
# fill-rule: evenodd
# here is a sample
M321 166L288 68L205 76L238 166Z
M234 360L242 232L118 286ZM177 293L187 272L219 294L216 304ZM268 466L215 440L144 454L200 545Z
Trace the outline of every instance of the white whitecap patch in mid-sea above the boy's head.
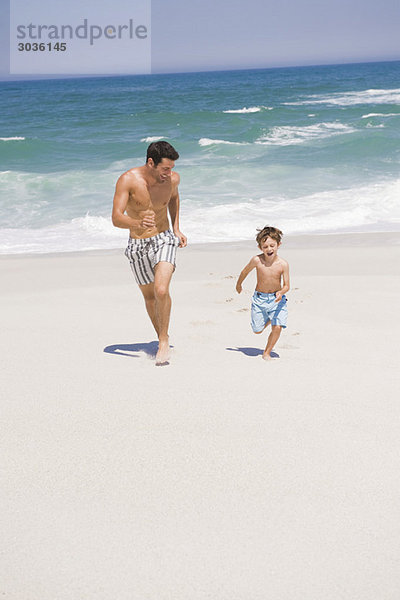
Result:
M343 123L315 123L305 127L273 127L256 140L256 144L271 146L293 146L310 140L319 140L333 135L353 133L355 129Z

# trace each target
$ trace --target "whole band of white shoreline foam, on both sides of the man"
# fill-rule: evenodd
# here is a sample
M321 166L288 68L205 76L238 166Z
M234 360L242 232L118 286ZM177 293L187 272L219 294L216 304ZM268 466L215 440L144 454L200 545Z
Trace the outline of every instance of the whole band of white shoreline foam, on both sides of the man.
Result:
M253 239L256 228L266 222L276 224L286 234L400 231L399 196L400 179L293 198L276 195L248 199L231 193L225 202L219 197L219 204L211 201L207 207L189 197L181 202L181 225L192 243ZM122 252L128 231L113 227L110 217L104 215L87 213L40 229L2 229L0 254L112 248Z

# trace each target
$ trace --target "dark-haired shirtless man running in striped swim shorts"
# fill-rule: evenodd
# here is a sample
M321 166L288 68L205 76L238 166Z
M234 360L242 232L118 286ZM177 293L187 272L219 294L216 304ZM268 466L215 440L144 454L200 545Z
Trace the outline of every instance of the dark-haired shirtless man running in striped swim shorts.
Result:
M125 255L157 332L158 365L169 360L169 284L175 270L176 249L187 244L179 229L180 179L172 171L178 158L179 154L168 142L150 144L146 164L130 169L118 179L112 212L115 227L130 232Z

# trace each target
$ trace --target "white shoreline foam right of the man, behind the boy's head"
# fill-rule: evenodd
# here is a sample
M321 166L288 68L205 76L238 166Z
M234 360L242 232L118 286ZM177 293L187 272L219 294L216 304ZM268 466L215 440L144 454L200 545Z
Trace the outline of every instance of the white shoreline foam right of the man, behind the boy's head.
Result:
M182 205L184 231L192 242L252 239L257 227L275 223L287 234L400 231L400 179L322 191L296 198L259 198L207 209ZM202 227L199 228L199 223Z

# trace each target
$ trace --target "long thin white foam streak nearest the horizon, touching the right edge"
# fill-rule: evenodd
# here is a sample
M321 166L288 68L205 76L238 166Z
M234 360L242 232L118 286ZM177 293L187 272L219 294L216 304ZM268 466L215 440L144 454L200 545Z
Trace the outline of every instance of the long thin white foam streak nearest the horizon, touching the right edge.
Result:
M305 106L309 104L331 104L351 106L356 104L400 104L400 88L393 90L363 90L329 95L313 94L297 102L284 102L287 106Z

